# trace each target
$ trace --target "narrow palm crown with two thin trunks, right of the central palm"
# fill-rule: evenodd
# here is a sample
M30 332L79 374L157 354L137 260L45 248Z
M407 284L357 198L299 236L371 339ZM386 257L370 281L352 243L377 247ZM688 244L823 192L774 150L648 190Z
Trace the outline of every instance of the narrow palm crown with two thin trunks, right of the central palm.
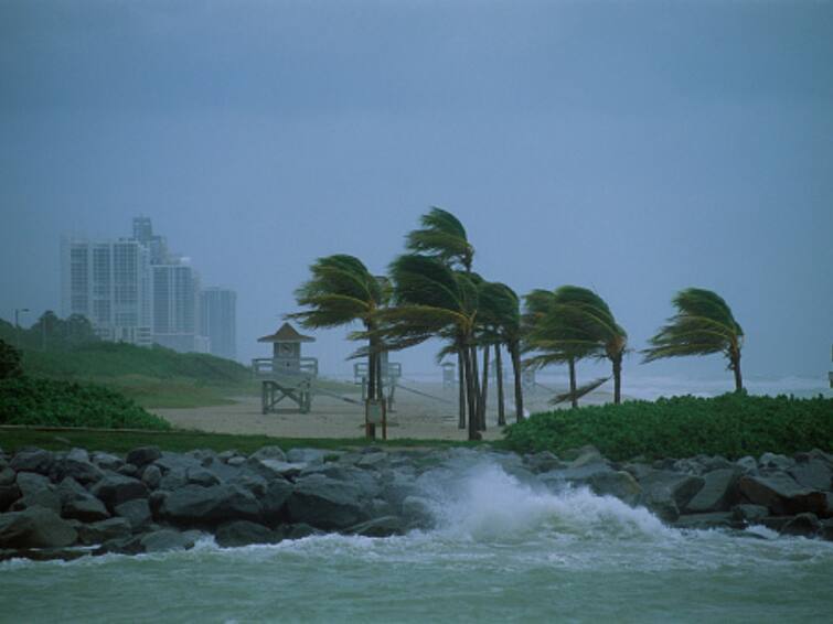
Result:
M488 282L479 290L481 322L490 329L494 344L498 374L498 424L506 424L503 409L503 362L501 345L505 345L512 361L515 384L515 418L523 420L523 386L521 384L521 305L517 294L504 283Z

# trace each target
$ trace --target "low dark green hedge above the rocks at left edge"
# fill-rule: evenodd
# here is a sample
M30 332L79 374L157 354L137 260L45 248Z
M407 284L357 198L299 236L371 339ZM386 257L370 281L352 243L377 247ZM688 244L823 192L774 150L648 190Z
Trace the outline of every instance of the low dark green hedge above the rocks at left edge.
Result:
M0 424L171 429L165 420L107 388L31 377L0 380Z

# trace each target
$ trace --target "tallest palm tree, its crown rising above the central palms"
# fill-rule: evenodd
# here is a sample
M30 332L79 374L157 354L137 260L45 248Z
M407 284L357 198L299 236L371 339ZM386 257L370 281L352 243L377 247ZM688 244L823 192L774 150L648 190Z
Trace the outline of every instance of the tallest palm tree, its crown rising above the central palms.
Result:
M408 233L405 247L414 254L429 256L444 262L448 267L460 267L467 273L471 273L471 265L474 259L474 247L469 243L460 219L448 211L432 206L431 209L419 219L421 229ZM457 354L457 369L460 372L460 429L466 429L466 387L463 380L466 367L463 356Z

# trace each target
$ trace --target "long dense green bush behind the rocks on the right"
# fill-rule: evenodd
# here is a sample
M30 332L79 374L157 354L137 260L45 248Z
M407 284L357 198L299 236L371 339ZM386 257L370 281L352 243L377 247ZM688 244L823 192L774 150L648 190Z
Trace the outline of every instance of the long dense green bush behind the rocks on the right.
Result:
M831 451L833 399L730 394L627 401L535 413L509 427L505 435L505 445L519 452L557 454L592 444L617 461Z

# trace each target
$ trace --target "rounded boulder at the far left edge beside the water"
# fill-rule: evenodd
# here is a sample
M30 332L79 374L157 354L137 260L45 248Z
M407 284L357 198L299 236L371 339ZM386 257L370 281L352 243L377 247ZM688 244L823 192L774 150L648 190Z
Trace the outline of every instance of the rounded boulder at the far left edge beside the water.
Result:
M62 548L77 539L70 523L43 507L0 516L0 548Z

